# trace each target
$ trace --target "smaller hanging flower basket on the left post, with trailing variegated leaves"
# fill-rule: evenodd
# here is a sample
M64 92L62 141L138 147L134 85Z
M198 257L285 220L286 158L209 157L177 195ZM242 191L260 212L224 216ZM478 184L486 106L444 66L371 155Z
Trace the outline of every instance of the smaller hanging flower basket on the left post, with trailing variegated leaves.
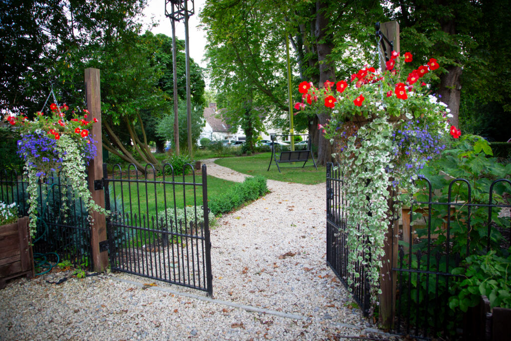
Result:
M30 234L34 237L36 230L39 181L44 176L55 173L67 181L72 191L71 197L81 198L88 211L106 213L90 195L86 181L85 170L88 162L96 156L94 140L89 135L90 127L97 120L87 121L87 110L72 111L67 105L50 105L51 112L44 115L42 111L36 112L34 119L23 114L8 115L5 120L20 133L18 141L18 155L25 161L24 171L28 175ZM64 184L65 185L65 184ZM43 186L43 190L44 190ZM67 195L67 186L60 186L62 197ZM44 195L45 193L41 193ZM67 207L62 201L62 212Z

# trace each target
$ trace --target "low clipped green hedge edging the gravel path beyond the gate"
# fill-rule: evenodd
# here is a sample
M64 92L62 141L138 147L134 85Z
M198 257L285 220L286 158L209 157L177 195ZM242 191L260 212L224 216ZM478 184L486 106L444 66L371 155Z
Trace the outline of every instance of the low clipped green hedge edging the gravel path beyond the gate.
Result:
M214 215L228 213L265 193L268 193L266 178L262 176L247 177L243 183L233 185L225 193L211 198L208 206Z

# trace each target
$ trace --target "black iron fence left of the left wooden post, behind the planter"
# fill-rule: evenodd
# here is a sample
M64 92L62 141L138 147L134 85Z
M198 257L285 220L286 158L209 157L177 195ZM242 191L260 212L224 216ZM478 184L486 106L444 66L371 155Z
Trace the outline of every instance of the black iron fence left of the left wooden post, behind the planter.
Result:
M28 179L16 171L0 172L0 200L15 202L19 214L27 216ZM37 229L34 254L49 254L48 260L69 260L92 269L88 212L81 199L75 199L66 179L59 174L42 177L38 182ZM36 255L37 256L37 255Z

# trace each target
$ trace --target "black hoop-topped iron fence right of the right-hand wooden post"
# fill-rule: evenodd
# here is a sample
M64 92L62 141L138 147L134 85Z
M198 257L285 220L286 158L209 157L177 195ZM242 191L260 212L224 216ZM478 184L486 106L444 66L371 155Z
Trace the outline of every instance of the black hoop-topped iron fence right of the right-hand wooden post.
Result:
M410 208L403 208L397 264L396 320L394 330L420 338L457 338L463 313L449 307L457 295L459 275L452 269L471 254L509 247L509 210L496 201L511 182L493 181L484 190L473 181L453 179L448 188L433 189L422 178L423 189ZM496 192L496 189L498 191Z

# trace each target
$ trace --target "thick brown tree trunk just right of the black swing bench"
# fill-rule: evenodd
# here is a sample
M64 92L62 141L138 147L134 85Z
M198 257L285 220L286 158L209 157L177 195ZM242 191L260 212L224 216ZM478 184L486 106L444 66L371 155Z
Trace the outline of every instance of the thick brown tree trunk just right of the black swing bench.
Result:
M330 59L330 54L334 48L332 37L327 35L326 30L329 25L328 14L326 9L328 4L322 0L316 1L316 45L318 53L319 63L319 86L322 87L323 83L327 80L335 82L335 65ZM327 120L330 119L330 114L324 108L323 112L318 114L318 121L320 124L326 124ZM318 165L325 166L328 162L332 161L332 144L330 141L324 138L323 134L320 133L318 143Z

